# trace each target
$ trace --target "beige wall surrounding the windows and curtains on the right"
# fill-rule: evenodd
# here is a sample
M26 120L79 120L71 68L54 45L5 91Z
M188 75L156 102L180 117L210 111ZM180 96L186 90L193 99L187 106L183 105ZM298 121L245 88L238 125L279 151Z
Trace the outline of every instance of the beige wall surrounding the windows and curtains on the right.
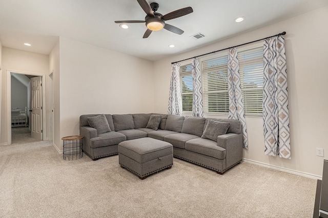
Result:
M324 148L325 159L328 158L328 29L324 28L328 26L327 14L328 7L322 8L187 53L155 61L154 111L167 113L171 62L286 31L292 158L286 160L264 155L263 121L261 118L252 117L246 119L249 149L243 150L243 158L264 165L286 168L296 173L321 177L324 158L316 156L316 147Z

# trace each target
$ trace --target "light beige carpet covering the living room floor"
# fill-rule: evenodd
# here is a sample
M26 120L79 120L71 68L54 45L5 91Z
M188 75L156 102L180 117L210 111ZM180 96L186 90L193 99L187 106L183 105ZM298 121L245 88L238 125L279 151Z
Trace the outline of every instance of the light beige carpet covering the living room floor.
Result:
M312 217L316 180L174 159L145 180L118 156L64 161L50 141L0 146L0 217Z

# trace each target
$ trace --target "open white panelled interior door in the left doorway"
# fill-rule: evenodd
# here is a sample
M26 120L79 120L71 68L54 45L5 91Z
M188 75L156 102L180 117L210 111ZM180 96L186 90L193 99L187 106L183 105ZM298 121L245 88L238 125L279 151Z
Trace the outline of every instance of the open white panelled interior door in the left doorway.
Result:
M31 78L31 136L42 140L42 77Z

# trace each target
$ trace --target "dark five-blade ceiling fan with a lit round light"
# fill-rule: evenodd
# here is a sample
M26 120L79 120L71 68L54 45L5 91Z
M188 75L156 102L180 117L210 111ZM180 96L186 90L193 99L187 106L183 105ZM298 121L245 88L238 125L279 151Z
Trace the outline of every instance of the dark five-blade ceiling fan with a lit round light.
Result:
M174 27L172 25L166 24L165 21L178 18L181 16L185 16L193 12L193 9L191 7L187 7L162 15L156 12L159 8L159 5L157 3L151 3L150 5L148 5L146 0L137 0L137 2L147 14L145 20L116 20L115 23L116 24L146 23L148 29L146 30L144 37L142 38L148 38L148 36L153 31L161 30L163 28L173 33L181 35L184 32L183 30Z

